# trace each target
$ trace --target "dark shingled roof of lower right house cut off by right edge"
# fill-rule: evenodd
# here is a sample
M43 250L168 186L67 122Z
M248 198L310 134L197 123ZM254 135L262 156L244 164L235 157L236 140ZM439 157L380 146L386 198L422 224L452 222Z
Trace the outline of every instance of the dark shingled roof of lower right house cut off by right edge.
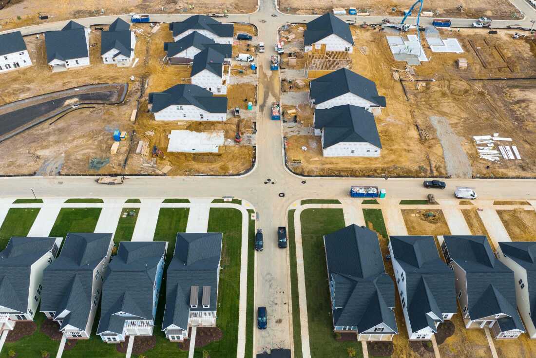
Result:
M499 246L505 256L527 270L525 289L528 288L530 312L536 312L536 242L500 242ZM531 320L536 325L536 315L531 315Z

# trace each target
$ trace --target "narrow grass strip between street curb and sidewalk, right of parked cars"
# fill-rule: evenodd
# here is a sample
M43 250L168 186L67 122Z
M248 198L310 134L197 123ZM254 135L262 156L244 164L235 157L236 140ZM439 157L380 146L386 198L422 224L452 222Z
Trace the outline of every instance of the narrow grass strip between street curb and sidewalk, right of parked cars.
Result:
M300 328L300 297L298 295L298 273L296 266L296 243L294 235L294 212L288 211L288 249L291 250L291 295L292 295L292 331L294 335L294 357L302 358L301 328Z

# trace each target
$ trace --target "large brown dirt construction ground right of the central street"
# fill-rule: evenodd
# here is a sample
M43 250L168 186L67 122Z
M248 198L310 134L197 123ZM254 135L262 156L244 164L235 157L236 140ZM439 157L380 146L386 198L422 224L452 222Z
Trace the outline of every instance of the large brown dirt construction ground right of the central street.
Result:
M459 40L465 53L458 55L431 53L426 40L422 39L427 56L432 58L430 62L415 66L414 78L435 81L426 82L421 89L416 89L416 81L404 82L408 93L406 100L401 84L393 80L391 73L391 68L404 69L405 62L394 61L385 39L386 35L396 33L356 27L352 27L352 33L355 39L353 71L375 81L379 94L386 96L387 107L375 117L382 142L381 156L323 158L319 137L292 136L288 138L287 154L289 166L296 173L420 177L449 174L453 177L471 174L473 177L536 175L536 148L531 145L536 140L536 123L531 116L536 110L536 81L469 80L534 76L536 45L532 41L513 40L508 31L497 35L475 29L442 31L443 38ZM358 47L366 47L366 55ZM468 61L467 70L457 69L456 61L461 57ZM436 117L447 120L448 128L439 132L443 136L443 144L453 143L455 148L463 148L467 156L465 161L457 158L456 151L445 152L448 155L443 152L436 129L430 122ZM426 130L428 138L419 135L415 124ZM501 137L513 138L508 143L518 147L521 160L494 163L478 158L472 137L495 132ZM303 152L302 146L307 146L308 150ZM292 165L293 160L301 160L302 163ZM459 162L461 169L458 168Z

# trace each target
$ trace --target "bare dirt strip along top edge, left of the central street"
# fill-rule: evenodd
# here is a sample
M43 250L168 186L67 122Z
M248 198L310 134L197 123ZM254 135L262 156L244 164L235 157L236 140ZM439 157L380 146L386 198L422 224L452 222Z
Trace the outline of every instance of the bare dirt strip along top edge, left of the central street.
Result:
M5 0L2 0L5 2ZM0 3L2 3L0 1ZM49 16L48 21L128 13L249 13L257 8L256 0L12 0L0 11L0 25L4 29L46 23L38 14ZM101 9L104 13L101 13ZM20 17L20 19L18 18Z

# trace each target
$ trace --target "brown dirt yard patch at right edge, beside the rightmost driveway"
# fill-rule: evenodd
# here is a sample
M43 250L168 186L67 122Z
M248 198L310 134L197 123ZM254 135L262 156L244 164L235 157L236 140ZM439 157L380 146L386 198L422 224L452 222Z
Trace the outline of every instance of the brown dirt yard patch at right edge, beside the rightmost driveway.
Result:
M536 241L536 212L534 210L497 210L512 241Z

